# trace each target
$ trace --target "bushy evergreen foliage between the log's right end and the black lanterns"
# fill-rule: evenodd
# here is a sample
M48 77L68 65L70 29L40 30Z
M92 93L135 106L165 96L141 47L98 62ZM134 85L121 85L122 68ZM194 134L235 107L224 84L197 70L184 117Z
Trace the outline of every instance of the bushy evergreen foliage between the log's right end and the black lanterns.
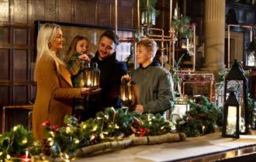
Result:
M223 111L214 103L210 103L206 96L201 96L200 103L187 100L190 110L181 120L177 120L176 129L187 137L198 137L205 133L213 133L216 125L222 124Z

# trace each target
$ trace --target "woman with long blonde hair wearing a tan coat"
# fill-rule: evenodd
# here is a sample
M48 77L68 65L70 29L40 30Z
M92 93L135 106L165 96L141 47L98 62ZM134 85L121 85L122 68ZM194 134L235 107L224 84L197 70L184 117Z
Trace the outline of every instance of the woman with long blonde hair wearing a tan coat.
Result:
M37 92L33 106L33 136L37 140L43 140L45 136L41 126L44 121L50 120L50 124L63 127L64 116L72 113L73 99L81 99L100 90L73 88L71 74L59 56L63 41L60 26L48 23L41 26L34 72Z

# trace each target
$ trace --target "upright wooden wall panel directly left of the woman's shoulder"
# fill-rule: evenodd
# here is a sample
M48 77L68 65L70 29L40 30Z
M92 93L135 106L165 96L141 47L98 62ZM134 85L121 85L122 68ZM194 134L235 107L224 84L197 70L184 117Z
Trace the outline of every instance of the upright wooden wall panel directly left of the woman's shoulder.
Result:
M26 50L14 50L13 53L13 79L15 81L26 81L28 80L27 74L27 51Z

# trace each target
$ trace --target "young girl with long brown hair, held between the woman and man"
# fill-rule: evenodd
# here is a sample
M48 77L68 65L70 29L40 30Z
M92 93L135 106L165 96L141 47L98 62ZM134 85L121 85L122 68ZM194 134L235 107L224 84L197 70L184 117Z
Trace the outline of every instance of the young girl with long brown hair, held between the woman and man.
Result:
M75 36L65 58L67 69L71 73L73 86L76 88L84 86L82 82L83 71L90 61L87 56L88 44L88 39L85 36ZM74 100L74 113L78 120L81 120L81 112L83 110L85 110L85 100Z

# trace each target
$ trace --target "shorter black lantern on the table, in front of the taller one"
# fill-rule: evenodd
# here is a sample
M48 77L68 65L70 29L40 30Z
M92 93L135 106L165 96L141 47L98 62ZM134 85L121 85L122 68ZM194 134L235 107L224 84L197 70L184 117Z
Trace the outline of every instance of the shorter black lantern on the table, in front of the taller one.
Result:
M224 117L223 117L223 137L239 138L239 103L234 91L230 92L230 96L224 103Z

